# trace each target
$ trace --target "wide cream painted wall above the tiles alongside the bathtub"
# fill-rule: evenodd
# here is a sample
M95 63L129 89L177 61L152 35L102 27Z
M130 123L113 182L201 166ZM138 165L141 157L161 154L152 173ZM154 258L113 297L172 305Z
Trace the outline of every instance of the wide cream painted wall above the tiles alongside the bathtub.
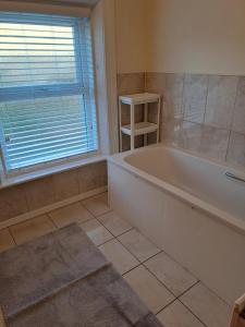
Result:
M148 72L245 74L244 0L146 1Z

